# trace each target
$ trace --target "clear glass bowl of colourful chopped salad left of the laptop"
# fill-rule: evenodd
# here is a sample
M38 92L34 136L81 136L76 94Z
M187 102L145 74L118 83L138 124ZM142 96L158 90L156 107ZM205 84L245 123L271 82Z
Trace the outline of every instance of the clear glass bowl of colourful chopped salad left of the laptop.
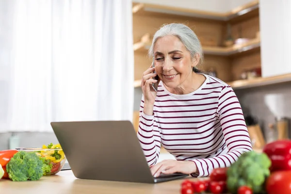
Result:
M66 157L61 146L55 145L56 148L43 147L17 147L18 151L35 152L43 163L44 176L55 175L62 170L65 165Z

